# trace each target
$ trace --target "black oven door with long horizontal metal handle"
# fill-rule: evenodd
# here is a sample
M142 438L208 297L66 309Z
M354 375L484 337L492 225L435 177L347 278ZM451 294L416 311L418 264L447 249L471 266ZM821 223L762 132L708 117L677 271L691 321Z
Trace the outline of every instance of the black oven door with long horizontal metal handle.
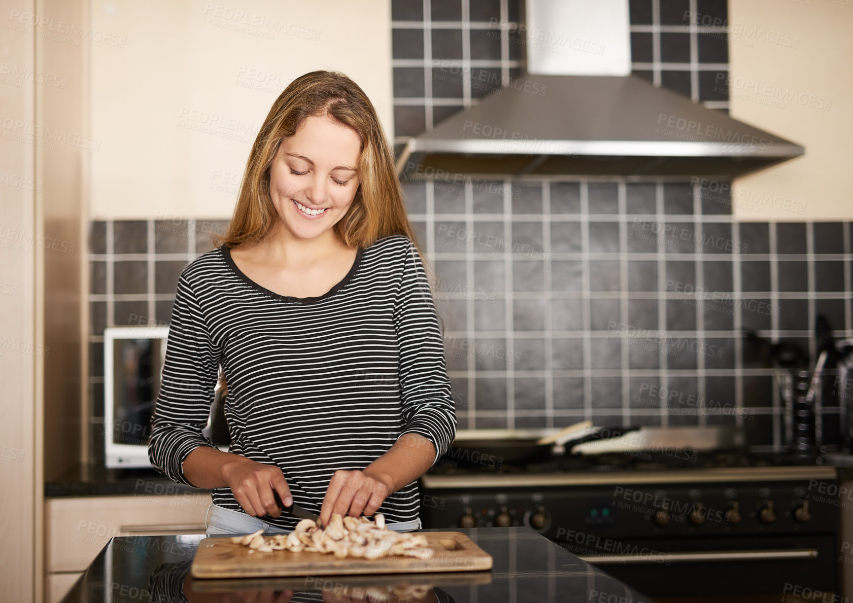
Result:
M578 555L650 597L736 601L738 595L840 593L835 536L762 536L624 541L602 556ZM712 597L709 599L708 597ZM750 600L757 600L751 598Z

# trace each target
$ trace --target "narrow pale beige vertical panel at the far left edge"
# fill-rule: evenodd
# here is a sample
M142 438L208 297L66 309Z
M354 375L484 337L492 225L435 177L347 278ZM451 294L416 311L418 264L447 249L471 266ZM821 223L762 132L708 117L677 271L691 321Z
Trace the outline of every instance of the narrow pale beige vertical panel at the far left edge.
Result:
M36 383L44 346L37 324L36 149L43 140L35 130L36 85L26 75L37 71L36 38L10 19L34 12L34 0L0 0L0 14L9 20L0 35L0 61L21 73L12 78L15 84L0 85L0 599L9 601L38 598L41 552Z

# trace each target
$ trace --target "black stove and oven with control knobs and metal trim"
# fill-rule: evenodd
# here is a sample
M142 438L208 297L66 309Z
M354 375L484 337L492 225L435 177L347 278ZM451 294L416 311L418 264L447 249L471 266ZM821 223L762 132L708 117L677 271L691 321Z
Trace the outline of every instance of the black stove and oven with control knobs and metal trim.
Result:
M438 463L421 478L421 519L525 525L650 596L839 592L836 471L799 463L683 449Z

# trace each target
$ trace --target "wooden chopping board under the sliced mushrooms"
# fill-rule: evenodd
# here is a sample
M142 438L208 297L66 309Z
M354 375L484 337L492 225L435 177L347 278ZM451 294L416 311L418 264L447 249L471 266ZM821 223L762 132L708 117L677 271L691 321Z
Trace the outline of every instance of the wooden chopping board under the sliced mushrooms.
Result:
M491 555L461 532L419 532L427 536L432 559L358 557L336 559L333 554L271 551L251 548L229 537L205 538L195 551L190 575L194 578L251 576L328 576L331 574L386 574L421 571L479 571L491 569Z

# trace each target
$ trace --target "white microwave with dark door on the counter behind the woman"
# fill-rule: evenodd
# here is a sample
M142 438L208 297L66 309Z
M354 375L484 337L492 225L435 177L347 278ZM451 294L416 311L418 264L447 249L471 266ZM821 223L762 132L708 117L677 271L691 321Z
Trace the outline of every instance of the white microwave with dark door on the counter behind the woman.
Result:
M168 327L104 329L103 435L107 467L151 467L148 438L160 395L168 338ZM223 428L223 398L217 383L202 434L227 452L229 438L228 429ZM216 438L212 437L214 434Z

